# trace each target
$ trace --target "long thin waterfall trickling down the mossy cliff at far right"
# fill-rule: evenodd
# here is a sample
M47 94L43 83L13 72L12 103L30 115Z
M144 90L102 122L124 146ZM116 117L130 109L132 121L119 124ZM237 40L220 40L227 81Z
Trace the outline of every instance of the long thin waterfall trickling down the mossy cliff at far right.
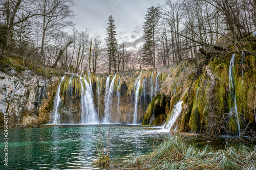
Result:
M232 113L235 114L236 116L236 122L237 122L237 126L238 126L238 133L239 136L241 135L241 131L240 131L240 124L239 124L239 117L238 117L238 108L237 108L237 100L236 100L236 88L234 86L234 75L233 75L233 66L234 66L234 58L236 56L236 53L232 55L231 61L230 61L230 65L229 65L229 91L231 93L231 100L234 101L234 107L231 106L229 115L232 115Z

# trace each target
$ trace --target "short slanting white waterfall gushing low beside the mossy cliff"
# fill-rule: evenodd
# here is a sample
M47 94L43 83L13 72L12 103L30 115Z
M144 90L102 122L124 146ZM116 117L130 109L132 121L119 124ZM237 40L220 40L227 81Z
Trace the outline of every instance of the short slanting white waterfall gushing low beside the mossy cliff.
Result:
M174 123L176 122L176 120L182 110L182 103L183 103L183 101L178 102L178 103L176 103L176 105L174 105L173 115L172 115L172 117L169 118L169 121L165 124L164 131L170 131L170 129L173 127Z

